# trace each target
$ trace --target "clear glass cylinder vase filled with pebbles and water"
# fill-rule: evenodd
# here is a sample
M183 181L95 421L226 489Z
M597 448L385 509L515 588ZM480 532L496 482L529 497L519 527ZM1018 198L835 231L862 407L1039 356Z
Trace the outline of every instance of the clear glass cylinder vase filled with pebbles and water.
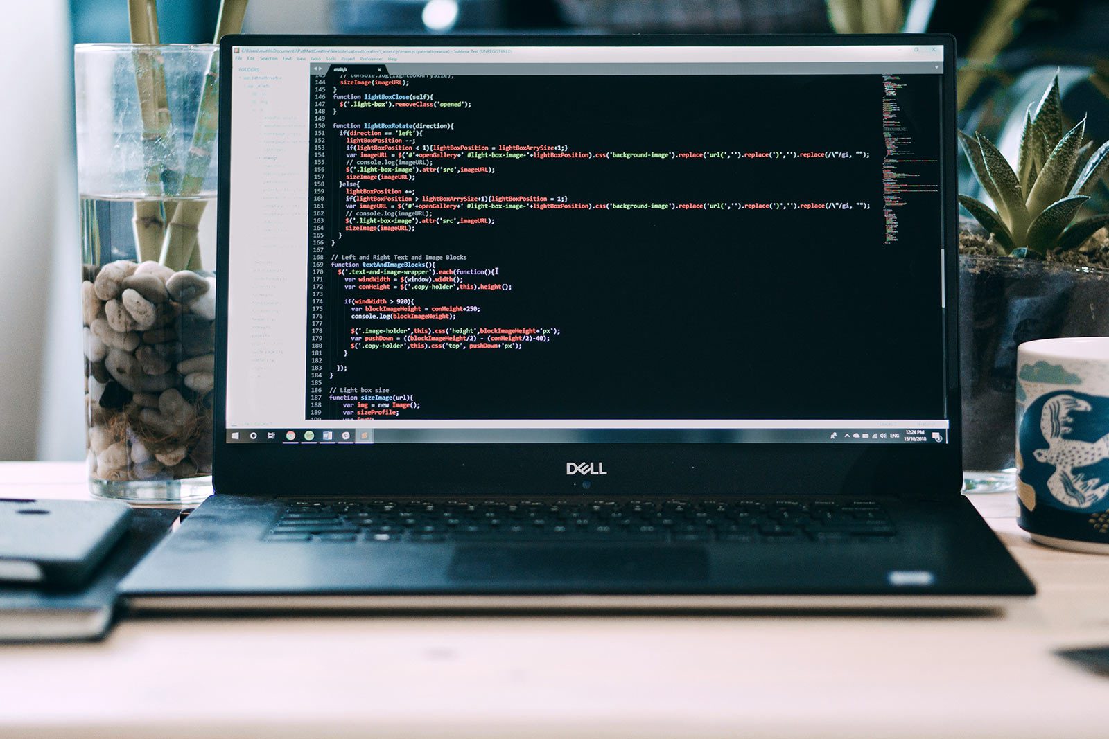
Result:
M211 492L218 48L75 48L89 484Z

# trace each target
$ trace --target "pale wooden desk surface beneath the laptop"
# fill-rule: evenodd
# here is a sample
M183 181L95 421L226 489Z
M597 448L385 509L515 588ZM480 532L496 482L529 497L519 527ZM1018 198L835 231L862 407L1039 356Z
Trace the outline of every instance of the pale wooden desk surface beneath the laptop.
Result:
M0 463L0 495L81 496L81 464ZM974 499L1040 595L1005 617L146 618L0 647L0 737L1109 736L1109 557L1031 544Z

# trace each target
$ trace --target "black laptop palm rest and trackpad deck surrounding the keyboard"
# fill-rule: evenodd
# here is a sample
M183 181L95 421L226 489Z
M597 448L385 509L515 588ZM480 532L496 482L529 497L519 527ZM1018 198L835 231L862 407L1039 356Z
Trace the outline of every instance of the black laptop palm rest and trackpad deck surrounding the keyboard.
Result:
M143 610L983 609L1032 584L969 501L883 504L885 541L274 542L285 503L218 494L121 584Z

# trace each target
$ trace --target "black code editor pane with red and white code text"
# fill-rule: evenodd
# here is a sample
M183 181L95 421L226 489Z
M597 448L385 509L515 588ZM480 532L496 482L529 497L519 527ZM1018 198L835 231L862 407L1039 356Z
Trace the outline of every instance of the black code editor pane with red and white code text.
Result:
M324 69L307 419L944 417L938 75Z

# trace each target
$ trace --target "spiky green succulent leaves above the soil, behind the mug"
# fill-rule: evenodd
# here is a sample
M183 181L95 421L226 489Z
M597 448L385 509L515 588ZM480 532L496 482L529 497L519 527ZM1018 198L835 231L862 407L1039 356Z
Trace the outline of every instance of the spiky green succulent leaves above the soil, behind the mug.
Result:
M1039 103L1025 112L1016 168L986 136L959 132L963 152L997 209L968 195L959 195L959 203L999 250L1042 257L1077 248L1109 224L1109 214L1071 223L1109 171L1109 142L1091 154L1093 142L1083 143L1085 137L1085 117L1064 131L1058 74Z

